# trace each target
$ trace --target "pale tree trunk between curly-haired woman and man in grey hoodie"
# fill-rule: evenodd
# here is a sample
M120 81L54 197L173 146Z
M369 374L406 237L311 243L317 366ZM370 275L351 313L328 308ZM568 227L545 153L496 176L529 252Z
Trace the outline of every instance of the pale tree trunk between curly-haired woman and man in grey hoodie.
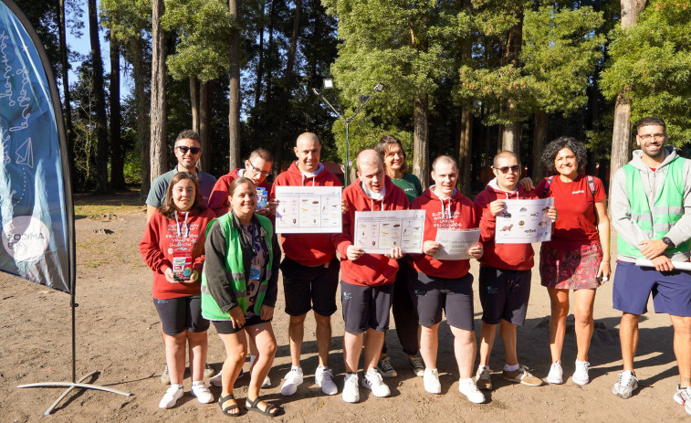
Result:
M620 0L622 5L622 31L625 33L638 22L638 16L645 7L646 0ZM616 96L614 106L614 127L612 130L612 156L610 174L619 170L629 161L631 149L631 85L625 85ZM610 178L610 185L612 180Z

